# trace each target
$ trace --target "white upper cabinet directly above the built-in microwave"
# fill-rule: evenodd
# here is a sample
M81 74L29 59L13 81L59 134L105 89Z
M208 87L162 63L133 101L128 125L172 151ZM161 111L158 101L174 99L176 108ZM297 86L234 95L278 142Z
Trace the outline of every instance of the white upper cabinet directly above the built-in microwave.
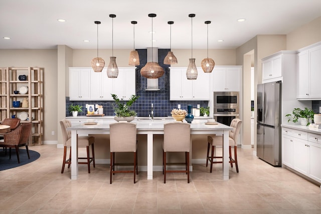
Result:
M212 73L214 91L240 91L240 66L216 66Z

